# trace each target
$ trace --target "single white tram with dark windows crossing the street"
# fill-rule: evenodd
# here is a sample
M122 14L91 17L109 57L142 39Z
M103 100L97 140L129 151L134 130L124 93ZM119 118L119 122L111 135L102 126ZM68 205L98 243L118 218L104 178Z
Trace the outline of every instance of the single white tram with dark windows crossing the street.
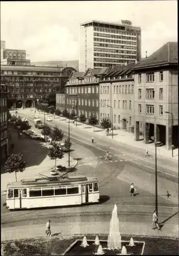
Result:
M84 175L32 178L7 184L7 208L30 209L97 203L98 181Z

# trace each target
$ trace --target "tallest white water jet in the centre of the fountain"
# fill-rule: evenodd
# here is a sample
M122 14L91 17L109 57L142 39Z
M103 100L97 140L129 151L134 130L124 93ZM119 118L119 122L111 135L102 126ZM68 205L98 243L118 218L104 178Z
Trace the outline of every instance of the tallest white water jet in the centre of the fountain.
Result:
M112 217L110 221L110 229L108 236L108 248L109 249L121 249L121 236L118 228L118 218L117 218L117 205L114 205L112 211Z

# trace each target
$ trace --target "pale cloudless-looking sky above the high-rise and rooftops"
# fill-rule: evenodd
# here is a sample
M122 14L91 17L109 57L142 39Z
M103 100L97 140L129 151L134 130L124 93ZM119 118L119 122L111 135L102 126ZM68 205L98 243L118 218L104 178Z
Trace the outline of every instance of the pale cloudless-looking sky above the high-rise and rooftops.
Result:
M142 30L142 57L177 41L177 1L1 2L1 40L31 61L74 60L79 24L131 20Z

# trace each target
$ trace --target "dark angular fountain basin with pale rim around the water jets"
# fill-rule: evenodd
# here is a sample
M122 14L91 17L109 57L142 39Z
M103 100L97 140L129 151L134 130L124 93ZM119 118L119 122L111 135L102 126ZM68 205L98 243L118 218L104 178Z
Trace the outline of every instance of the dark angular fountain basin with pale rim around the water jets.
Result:
M73 244L71 244L67 250L62 255L95 255L94 253L97 252L98 245L94 244L95 240L88 240L87 242L89 246L82 247L83 240L76 240ZM145 247L145 242L135 241L135 246L129 246L129 240L128 241L121 241L122 247L125 246L127 249L127 254L133 254L133 255L142 255ZM103 247L103 251L105 252L104 255L117 255L121 253L122 249L114 249L109 250L108 247L108 241L107 240L100 240L100 244Z

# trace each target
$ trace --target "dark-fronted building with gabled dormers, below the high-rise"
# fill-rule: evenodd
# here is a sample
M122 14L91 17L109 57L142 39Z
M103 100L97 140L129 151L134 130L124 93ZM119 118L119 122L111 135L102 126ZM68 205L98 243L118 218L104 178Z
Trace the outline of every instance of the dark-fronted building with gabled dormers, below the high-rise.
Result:
M99 120L99 83L108 68L87 69L83 72L72 72L67 83L66 93L56 94L56 107L69 113L77 109L77 115L85 114L87 118L95 116Z

